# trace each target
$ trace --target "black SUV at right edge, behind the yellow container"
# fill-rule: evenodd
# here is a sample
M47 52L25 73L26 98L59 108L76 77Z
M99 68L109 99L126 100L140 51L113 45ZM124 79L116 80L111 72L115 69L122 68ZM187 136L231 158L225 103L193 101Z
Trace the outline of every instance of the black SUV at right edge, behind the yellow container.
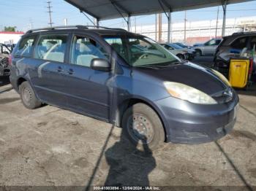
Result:
M230 58L252 57L252 50L256 46L256 31L235 33L225 36L217 47L214 55L214 68L227 73L230 67ZM254 60L256 52L254 52ZM256 72L256 62L254 61L253 72Z

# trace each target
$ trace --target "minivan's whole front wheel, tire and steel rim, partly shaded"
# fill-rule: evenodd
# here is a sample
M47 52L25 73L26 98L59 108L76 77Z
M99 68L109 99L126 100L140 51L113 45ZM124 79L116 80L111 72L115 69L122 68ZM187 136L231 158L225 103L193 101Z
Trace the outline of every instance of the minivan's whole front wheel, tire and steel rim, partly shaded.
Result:
M122 117L122 128L129 141L144 151L157 149L165 141L165 130L161 120L146 104L130 106Z

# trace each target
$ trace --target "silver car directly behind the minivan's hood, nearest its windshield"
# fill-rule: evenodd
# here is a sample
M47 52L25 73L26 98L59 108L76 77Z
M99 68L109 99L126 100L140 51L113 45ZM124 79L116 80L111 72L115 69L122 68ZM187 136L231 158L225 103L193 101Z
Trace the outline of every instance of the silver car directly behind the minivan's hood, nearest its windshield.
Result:
M192 50L180 47L177 44L165 43L161 45L165 47L167 50L169 50L170 52L172 52L174 55L178 56L178 58L181 58L183 60L191 61L192 59L195 58L195 55L192 52Z

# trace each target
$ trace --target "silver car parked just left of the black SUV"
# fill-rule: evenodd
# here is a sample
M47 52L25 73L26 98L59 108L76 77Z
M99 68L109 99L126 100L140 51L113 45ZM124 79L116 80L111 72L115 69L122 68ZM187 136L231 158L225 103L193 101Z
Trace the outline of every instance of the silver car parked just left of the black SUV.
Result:
M198 44L194 49L197 55L214 55L220 42L222 39L211 39L204 44Z

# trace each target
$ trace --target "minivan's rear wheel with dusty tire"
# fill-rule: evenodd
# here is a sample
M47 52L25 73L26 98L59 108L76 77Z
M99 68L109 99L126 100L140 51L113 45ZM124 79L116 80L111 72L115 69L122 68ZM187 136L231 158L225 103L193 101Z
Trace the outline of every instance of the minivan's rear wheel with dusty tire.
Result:
M29 82L23 82L19 86L20 98L27 109L37 109L42 103L37 99Z

